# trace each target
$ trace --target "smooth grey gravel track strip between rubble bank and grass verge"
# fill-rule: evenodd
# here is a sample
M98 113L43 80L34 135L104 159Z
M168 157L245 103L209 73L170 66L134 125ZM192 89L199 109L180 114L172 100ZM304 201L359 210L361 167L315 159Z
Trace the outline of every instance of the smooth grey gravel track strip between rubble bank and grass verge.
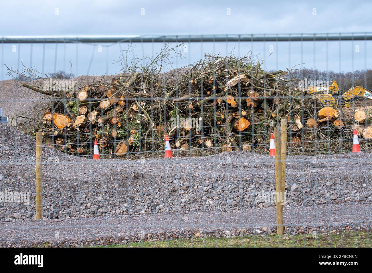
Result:
M284 233L327 233L371 227L369 204L284 207ZM94 246L191 237L275 233L276 210L248 209L0 224L0 246Z

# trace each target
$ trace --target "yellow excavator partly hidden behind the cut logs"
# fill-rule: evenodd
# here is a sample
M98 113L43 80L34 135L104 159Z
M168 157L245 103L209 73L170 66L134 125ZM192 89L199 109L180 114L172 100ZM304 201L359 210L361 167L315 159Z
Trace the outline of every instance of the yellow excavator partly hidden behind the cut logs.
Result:
M343 94L339 95L339 85L336 81L330 81L323 85L309 86L304 89L305 94L314 94L315 98L321 101L324 105L337 107L338 101L341 101L343 107L350 107L352 101L358 100L372 100L372 90L363 87L362 85L357 85L350 88Z

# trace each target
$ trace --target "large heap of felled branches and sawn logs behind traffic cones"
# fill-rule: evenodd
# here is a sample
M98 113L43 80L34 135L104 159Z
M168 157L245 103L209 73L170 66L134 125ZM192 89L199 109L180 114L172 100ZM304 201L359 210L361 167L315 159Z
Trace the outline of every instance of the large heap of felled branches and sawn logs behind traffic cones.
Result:
M208 54L163 72L180 46L167 44L154 58L131 61L126 51L122 73L109 82L61 88L35 69L8 73L36 80L21 84L48 95L52 103L32 134L41 131L45 143L71 155L92 155L94 140L108 157L163 151L165 134L172 149L264 152L281 118L297 145L340 137L345 122L339 111L303 94L293 70L265 71L264 60L249 54Z

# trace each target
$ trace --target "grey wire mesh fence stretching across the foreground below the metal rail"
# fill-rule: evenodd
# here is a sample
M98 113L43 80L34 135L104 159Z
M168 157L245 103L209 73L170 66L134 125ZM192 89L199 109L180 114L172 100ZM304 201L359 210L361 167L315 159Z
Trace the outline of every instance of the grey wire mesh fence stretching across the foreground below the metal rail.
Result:
M1 83L3 114L14 113L10 124L0 124L1 246L369 246L370 35L339 35L339 40L324 35L321 41L319 35L312 41L289 35L286 42L280 35L268 37L276 43L234 41L236 56L229 51L232 40L217 37L181 44L185 37L167 37L165 45L136 38L139 46L121 40L103 45L103 51L97 44L36 39L22 43L22 50L31 48L29 65L21 44L7 64L4 52L11 40L3 39L7 74L18 81ZM360 41L364 54L356 57ZM288 51L278 52L280 43ZM308 43L313 50L304 53ZM291 66L310 54L318 68L318 43L326 56L319 66L327 71L328 63L349 61L341 48L350 46L349 82ZM251 52L257 44L263 58ZM109 60L114 47L121 49L122 71L108 76L106 61L103 77L54 78L45 73L51 65L46 56L52 56L47 46L54 47L53 71L60 67L61 46L65 67L76 54L77 75L81 62L89 75L95 61L105 63L97 53L106 49ZM215 53L224 46L226 56ZM79 47L91 47L89 61ZM331 62L329 47L340 49ZM188 64L201 60L186 65L184 55ZM355 67L363 69L360 75ZM288 123L284 235L277 237L275 159L269 149L283 118ZM44 143L44 220L36 220L36 133ZM350 153L355 133L362 153ZM163 158L165 135L173 158ZM100 160L92 159L95 142Z

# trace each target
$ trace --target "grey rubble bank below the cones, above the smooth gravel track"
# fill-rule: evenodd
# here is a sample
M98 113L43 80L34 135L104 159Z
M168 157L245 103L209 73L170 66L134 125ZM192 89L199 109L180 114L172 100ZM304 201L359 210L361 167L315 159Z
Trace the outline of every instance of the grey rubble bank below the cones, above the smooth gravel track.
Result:
M9 126L0 127L0 132L4 175L0 187L4 192L30 192L29 204L4 202L0 221L29 221L35 212L35 141ZM66 157L49 147L43 153L43 204L48 219L275 205L275 162L269 156L230 152L97 161ZM286 204L370 202L371 160L371 153L288 156Z

